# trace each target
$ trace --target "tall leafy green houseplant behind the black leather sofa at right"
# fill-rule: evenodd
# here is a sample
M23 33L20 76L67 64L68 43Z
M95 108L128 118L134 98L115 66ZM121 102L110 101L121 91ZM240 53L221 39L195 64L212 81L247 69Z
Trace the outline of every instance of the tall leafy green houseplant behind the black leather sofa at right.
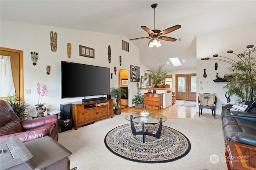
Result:
M223 87L231 95L238 97L238 101L252 101L256 97L256 57L251 56L256 48L250 49L250 47L253 45L247 46L249 51L238 54L237 58L240 60L232 63L228 68L231 74L228 76L227 85Z

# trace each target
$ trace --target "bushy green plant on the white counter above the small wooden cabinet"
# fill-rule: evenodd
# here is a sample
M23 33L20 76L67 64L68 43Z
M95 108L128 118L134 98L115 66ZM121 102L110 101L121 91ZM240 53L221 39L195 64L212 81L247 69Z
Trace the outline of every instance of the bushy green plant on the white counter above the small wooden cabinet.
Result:
M146 70L145 72L148 72L148 77L151 77L151 81L154 84L154 87L158 87L158 84L160 84L162 81L164 81L164 78L166 75L172 74L172 71L163 71L162 68L165 65L159 65L158 70Z

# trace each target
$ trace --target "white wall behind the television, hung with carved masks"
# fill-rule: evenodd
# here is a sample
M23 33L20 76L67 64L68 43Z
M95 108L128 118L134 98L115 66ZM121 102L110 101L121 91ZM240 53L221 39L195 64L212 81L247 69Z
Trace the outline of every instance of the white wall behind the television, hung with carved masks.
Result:
M56 32L58 35L57 51L54 53L50 48L50 32ZM42 99L46 107L50 109L60 109L61 103L71 101L81 101L83 97L61 99L61 68L60 61L70 61L102 67L110 67L113 73L113 79L110 79L110 87L118 87L118 74L114 74L114 67L127 69L130 71L130 65L140 66L139 49L130 44L130 51L122 50L122 40L128 39L124 36L102 34L96 32L86 32L81 30L72 30L66 28L56 28L50 26L41 26L34 24L25 24L19 22L9 22L1 20L1 47L18 49L23 51L24 56L24 91L31 89L31 94L24 93L24 99L31 103L32 113L35 112L35 104L38 103L38 94L36 93L36 84L46 85L47 91ZM71 58L67 57L67 43L72 45ZM95 58L79 56L79 45L95 49ZM111 63L108 63L108 45L111 46ZM36 65L32 65L30 52L38 53ZM122 56L122 65L119 64L119 56ZM51 66L50 75L46 74L46 65ZM144 75L144 70L141 70ZM136 85L129 80L129 96L136 94ZM89 82L92 83L93 82ZM135 93L134 93L135 92ZM132 105L132 97L129 100L129 106Z

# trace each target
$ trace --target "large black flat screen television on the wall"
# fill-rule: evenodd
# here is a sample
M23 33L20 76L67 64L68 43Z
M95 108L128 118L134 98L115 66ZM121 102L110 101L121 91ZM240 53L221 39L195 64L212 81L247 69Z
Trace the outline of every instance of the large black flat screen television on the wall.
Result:
M106 95L110 68L61 61L61 98Z

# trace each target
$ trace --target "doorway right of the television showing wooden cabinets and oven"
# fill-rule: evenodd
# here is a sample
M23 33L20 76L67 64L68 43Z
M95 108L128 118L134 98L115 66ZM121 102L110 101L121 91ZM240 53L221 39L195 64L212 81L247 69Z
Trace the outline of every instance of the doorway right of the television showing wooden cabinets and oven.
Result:
M129 107L128 106L128 70L125 69L119 69L118 70L118 74L119 74L119 87L121 89L124 89L126 91L126 97L122 96L121 100L120 100L120 105L121 105L121 109Z

